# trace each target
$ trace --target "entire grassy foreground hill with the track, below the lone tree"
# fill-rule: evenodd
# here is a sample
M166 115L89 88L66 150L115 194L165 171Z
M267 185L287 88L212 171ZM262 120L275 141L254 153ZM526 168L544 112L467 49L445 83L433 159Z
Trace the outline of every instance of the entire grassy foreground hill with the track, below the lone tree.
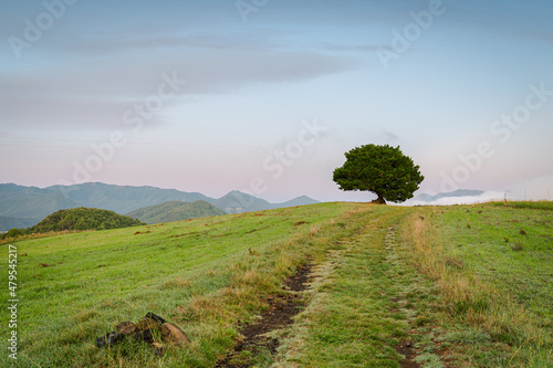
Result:
M309 264L295 323L234 367L553 367L552 228L545 202L321 203L17 242L18 366L213 367ZM191 344L94 346L147 312Z

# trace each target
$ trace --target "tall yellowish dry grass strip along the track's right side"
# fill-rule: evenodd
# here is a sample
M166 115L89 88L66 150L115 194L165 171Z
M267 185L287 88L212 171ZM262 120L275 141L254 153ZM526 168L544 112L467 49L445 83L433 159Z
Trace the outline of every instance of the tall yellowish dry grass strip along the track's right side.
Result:
M442 317L450 318L446 325L449 324L452 329L462 325L470 326L471 330L483 333L484 338L470 348L467 345L470 339L463 340L459 346L465 348L457 353L462 355L465 353L461 351L467 349L470 350L467 355L476 355L477 360L481 359L486 364L495 361L502 367L545 367L545 361L553 366L551 354L547 357L544 353L551 351L553 341L551 333L540 327L543 319L530 312L526 304L521 303L511 292L505 291L511 287L510 280L499 280L493 277L493 273L483 275L476 271L477 263L472 259L474 255L466 250L472 246L473 238L470 238L472 240L469 243L447 238L446 232L437 227L440 214L440 210L432 209L425 218L411 215L403 227L403 239L415 251L413 264L438 285L442 297L441 311L446 313ZM458 221L461 224L457 224L457 229L465 228L465 231L472 232L470 236L477 239L487 236L487 229L481 223L468 229L461 221ZM480 230L474 233L477 225ZM498 242L500 241L502 239ZM476 252L494 251L486 244L479 246L481 248L470 249ZM471 257L467 257L467 254ZM498 254L499 256L501 255ZM478 256L476 260L478 261ZM493 270L493 264L487 266ZM474 359L474 356L470 359Z

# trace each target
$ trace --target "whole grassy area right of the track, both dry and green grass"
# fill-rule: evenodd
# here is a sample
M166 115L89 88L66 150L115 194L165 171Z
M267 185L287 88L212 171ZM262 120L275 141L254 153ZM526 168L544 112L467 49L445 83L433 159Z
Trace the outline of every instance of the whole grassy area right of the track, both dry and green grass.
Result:
M551 206L549 206L551 207ZM460 366L553 367L553 212L541 203L437 208L405 239L441 302L419 334Z

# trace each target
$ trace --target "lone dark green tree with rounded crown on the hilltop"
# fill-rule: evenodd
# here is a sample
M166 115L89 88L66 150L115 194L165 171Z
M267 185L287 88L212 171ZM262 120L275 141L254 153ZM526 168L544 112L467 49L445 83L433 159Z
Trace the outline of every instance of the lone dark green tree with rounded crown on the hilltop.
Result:
M403 202L413 198L425 177L413 159L398 147L365 145L345 154L344 166L334 170L333 180L342 190L368 190L373 201Z

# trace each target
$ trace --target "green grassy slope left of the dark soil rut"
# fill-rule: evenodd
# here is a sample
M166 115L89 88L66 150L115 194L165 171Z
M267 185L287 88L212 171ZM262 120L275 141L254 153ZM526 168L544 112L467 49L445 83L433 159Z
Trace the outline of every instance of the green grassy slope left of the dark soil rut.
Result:
M28 357L20 364L118 366L128 351L106 354L92 343L116 323L154 312L194 341L168 354L167 367L210 367L233 345L237 320L262 307L258 295L278 292L285 275L319 252L309 245L310 232L351 208L317 204L15 243L19 254L29 254L18 269L20 348ZM137 349L124 358L129 367L156 365Z

